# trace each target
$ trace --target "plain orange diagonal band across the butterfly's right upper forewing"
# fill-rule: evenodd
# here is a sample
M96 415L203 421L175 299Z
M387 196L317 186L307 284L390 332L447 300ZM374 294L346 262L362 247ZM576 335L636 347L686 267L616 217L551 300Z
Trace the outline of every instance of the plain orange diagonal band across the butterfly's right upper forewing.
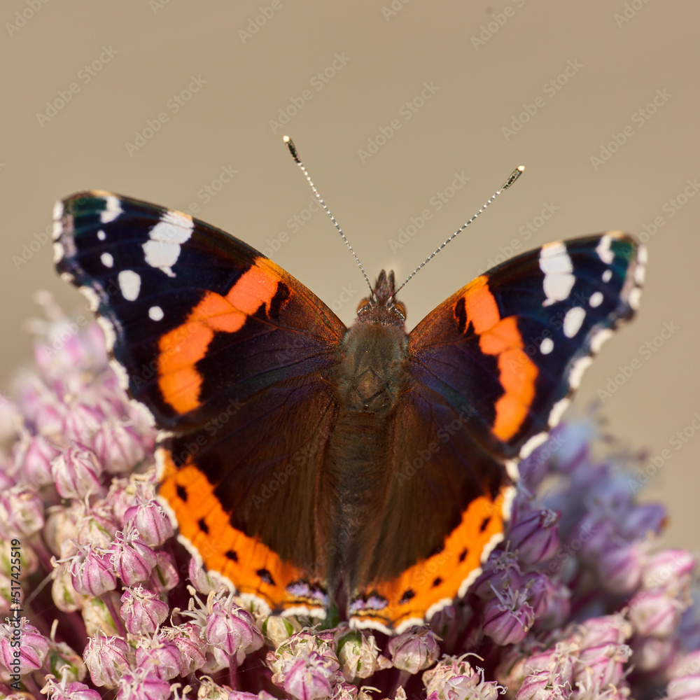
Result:
M479 349L485 355L498 357L498 379L504 393L496 402L492 429L500 440L510 440L532 405L539 370L524 351L517 318L500 318L486 276L477 277L470 284L464 302L467 318L479 335Z

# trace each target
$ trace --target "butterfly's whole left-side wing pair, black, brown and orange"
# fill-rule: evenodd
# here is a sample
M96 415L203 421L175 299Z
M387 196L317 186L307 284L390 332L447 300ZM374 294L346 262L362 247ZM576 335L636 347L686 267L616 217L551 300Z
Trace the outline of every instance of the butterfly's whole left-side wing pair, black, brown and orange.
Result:
M181 537L269 608L322 610L314 494L342 322L235 237L111 193L57 205L55 251L162 428L160 496Z

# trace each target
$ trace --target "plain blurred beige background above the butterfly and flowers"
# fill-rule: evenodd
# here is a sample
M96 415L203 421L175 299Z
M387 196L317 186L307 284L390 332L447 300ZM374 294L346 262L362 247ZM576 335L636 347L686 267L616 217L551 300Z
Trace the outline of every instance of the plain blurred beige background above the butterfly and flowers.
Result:
M363 280L325 215L304 212L311 191L283 134L372 279L381 267L407 275L524 163L517 186L402 293L409 327L513 239L531 248L612 228L639 234L661 217L640 314L605 345L577 405L638 359L603 414L633 449L671 448L647 496L671 510L668 542L696 547L700 437L678 451L669 440L700 412L700 197L675 211L668 202L700 176L698 3L4 0L0 20L3 377L27 358L22 323L37 312L35 290L66 309L84 305L55 276L50 246L32 244L45 238L58 197L102 188L179 209L195 202L197 216L257 248L285 232L274 259L349 323ZM206 83L175 112L169 101L192 76ZM559 89L548 87L558 76ZM71 83L70 102L40 120ZM438 89L407 111L424 83ZM639 110L657 95L645 119ZM292 98L302 108L271 125ZM537 112L504 134L524 104ZM128 153L160 113L167 122ZM393 119L400 128L363 162L358 151ZM591 156L625 127L626 143L595 167ZM237 174L207 202L204 188L218 187L223 167ZM456 172L469 181L438 211L432 198ZM556 212L537 222L545 203ZM389 241L424 209L426 225L392 251ZM307 218L298 230L287 223L295 215ZM528 221L542 225L526 241ZM23 251L31 257L19 264ZM678 330L646 357L640 346L664 323Z

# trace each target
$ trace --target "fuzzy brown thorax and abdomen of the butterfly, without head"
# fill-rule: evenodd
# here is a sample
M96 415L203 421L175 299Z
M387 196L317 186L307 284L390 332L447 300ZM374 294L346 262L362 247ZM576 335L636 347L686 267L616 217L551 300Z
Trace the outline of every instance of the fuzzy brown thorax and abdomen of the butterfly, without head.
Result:
M396 325L358 321L346 333L330 381L339 407L325 459L321 512L330 552L329 589L352 589L374 552L391 482L390 423L405 390L407 336ZM368 546L369 545L369 546ZM347 576L352 574L353 580Z

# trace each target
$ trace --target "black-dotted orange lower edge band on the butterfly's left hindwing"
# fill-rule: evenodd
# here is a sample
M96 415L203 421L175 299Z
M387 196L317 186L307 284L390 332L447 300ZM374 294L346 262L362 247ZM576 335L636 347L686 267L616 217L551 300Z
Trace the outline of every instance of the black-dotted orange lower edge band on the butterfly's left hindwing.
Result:
M258 538L233 527L214 486L195 463L188 461L177 468L167 450L161 454L158 495L174 512L180 534L197 549L208 570L221 573L235 584L239 594L257 596L272 610L318 605L318 601L308 601L286 590L292 582L308 581L308 572L283 562Z

